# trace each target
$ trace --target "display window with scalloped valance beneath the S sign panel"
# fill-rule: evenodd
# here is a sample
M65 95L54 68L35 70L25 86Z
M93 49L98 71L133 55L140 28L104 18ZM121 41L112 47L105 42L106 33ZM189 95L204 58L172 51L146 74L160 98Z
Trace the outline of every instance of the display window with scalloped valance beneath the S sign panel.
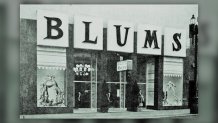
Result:
M163 106L182 106L183 59L164 58Z

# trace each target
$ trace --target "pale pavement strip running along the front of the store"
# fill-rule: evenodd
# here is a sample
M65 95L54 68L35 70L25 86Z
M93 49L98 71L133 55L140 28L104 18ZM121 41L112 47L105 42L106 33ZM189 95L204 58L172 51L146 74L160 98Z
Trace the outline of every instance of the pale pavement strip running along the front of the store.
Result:
M189 109L179 110L143 110L140 112L75 112L64 114L34 114L34 115L20 115L20 119L186 119L197 118L198 115L190 114Z

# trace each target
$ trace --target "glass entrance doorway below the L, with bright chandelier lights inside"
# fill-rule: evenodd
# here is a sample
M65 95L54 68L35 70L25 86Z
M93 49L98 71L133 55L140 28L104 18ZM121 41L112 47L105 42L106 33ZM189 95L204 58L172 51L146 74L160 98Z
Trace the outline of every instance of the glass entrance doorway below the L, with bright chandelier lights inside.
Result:
M74 53L74 113L97 111L97 57L94 53Z

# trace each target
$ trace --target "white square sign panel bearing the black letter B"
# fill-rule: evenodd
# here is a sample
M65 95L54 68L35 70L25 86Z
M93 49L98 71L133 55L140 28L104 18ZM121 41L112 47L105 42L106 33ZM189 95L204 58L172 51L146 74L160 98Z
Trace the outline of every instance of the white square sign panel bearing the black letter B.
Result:
M68 47L68 24L62 13L37 11L37 45Z

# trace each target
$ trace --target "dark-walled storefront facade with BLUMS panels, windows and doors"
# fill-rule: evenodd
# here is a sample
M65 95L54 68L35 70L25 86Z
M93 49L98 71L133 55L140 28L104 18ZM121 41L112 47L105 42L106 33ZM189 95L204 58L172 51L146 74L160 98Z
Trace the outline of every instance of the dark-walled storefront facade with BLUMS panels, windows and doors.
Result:
M183 30L173 32L178 29L169 29L164 34L158 31L155 44L152 31L151 40L146 38L148 32L142 32L146 32L145 28L160 30L159 27L140 25L137 31L130 28L129 37L124 40L128 29L120 28L126 31L126 34L120 34L124 44L116 38L116 29L119 25L131 27L129 23L112 21L105 28L92 17L74 17L75 23L69 24L62 14L39 11L36 20L20 19L21 114L97 112L104 81L110 93L109 111L126 110L129 105L128 83L131 81L137 82L143 97L142 111L188 108L188 53L186 42L179 45L177 42L184 41ZM52 39L50 32L49 39L49 22L44 16L61 20L61 38ZM94 26L93 31L91 25L88 29L89 24L98 26ZM56 31L53 36L60 34L60 30L56 28ZM172 33L180 36L177 38ZM93 43L99 40L102 42ZM114 43L123 46L116 47ZM130 64L118 68L120 61L130 61ZM131 81L127 76L131 76Z

